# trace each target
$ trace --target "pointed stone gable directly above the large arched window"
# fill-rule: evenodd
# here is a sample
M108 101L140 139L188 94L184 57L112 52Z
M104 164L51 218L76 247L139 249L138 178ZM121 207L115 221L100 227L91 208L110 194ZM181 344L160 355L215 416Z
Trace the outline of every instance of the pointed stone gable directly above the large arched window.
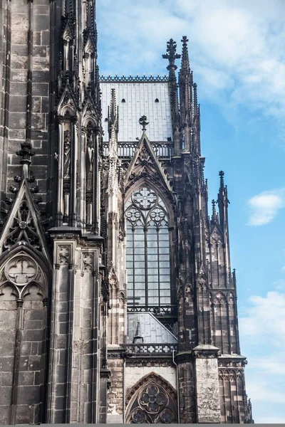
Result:
M127 186L130 181L137 176L148 176L150 178L157 177L164 182L167 189L172 191L170 183L167 181L167 177L162 170L161 164L158 161L145 132L142 132L142 137L140 138L134 157L128 167L128 171L125 175L125 185Z

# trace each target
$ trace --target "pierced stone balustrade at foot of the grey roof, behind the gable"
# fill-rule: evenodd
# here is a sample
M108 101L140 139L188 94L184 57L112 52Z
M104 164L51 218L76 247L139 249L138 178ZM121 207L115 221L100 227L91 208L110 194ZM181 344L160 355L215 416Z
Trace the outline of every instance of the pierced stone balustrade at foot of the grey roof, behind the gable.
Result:
M119 142L118 143L118 157L120 159L131 159L135 154L135 149L138 142ZM154 142L152 143L152 149L155 152L156 157L161 159L171 159L172 156L172 142ZM109 143L103 143L103 156L108 157L109 155Z

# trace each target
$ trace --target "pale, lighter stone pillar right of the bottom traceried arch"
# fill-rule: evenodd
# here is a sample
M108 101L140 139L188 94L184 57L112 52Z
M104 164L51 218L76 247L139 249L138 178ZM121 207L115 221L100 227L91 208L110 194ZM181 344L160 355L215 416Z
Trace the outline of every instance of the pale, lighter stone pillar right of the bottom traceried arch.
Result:
M193 350L196 375L197 423L221 423L219 400L218 352L210 344L199 344Z

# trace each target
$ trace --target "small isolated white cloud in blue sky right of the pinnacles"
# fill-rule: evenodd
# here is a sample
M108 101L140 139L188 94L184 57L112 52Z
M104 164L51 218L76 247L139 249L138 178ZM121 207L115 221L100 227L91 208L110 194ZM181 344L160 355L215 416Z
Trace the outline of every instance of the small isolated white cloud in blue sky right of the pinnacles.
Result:
M264 226L285 206L284 189L264 191L247 202L250 209L249 226Z

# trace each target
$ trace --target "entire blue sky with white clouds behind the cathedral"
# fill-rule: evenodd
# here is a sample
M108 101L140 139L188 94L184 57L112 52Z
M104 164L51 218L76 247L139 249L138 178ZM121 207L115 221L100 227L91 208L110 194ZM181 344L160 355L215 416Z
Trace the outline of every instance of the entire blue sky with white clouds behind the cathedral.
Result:
M190 39L209 200L229 192L232 268L256 423L285 423L285 4L97 1L100 73L165 74L166 42Z

